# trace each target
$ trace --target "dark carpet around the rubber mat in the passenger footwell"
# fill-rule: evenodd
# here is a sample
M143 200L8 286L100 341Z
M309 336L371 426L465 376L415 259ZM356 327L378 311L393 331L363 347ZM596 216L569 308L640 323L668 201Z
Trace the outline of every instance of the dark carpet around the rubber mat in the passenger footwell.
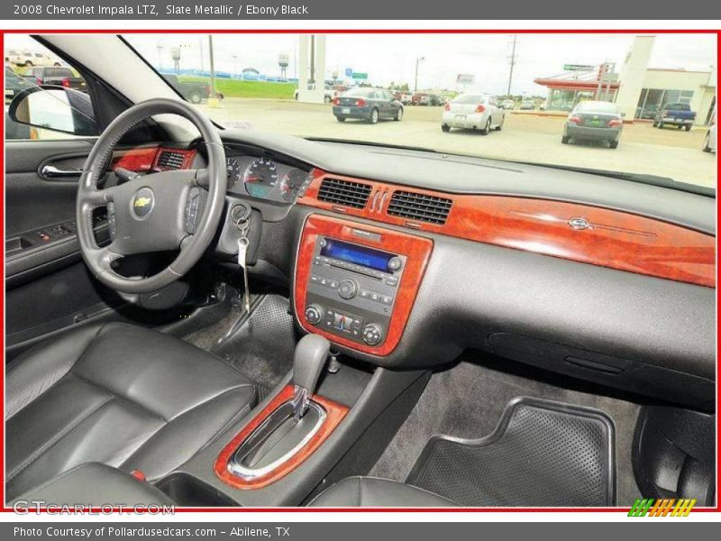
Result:
M434 373L370 475L406 481L431 436L488 436L497 426L507 403L526 396L597 408L613 418L616 425L617 505L630 505L640 497L631 463L639 405L589 390L563 387L559 381L549 381L548 372L525 365L521 373L506 371L502 362L499 366L497 359L490 360L482 353L471 352L451 369Z

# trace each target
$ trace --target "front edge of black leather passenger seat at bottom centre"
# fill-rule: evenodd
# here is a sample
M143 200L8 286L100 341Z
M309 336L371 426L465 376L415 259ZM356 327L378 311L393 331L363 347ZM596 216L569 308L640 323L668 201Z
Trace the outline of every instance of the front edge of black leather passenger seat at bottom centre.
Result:
M321 492L308 507L455 507L412 485L376 477L348 477Z

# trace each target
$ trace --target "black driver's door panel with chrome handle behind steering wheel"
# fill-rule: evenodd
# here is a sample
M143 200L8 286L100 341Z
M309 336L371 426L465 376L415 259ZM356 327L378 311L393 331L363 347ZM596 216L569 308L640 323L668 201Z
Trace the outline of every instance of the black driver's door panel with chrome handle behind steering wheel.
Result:
M89 316L113 315L123 299L90 275L75 234L79 176L50 179L43 165L79 170L92 141L5 142L6 353L13 358L27 344ZM62 225L63 234L52 233ZM107 239L105 225L98 241Z

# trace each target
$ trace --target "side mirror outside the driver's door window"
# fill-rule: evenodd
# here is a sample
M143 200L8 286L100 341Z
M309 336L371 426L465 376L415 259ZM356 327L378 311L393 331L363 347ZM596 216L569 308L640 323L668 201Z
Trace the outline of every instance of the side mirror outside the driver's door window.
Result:
M43 85L14 96L7 115L18 124L71 135L97 135L90 97L72 88Z

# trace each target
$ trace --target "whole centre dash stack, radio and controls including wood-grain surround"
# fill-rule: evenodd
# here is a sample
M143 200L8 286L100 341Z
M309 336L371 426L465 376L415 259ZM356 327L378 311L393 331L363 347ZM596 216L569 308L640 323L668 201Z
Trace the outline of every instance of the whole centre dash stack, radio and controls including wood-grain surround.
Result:
M403 334L432 249L423 237L309 215L296 262L300 325L336 344L387 355Z

